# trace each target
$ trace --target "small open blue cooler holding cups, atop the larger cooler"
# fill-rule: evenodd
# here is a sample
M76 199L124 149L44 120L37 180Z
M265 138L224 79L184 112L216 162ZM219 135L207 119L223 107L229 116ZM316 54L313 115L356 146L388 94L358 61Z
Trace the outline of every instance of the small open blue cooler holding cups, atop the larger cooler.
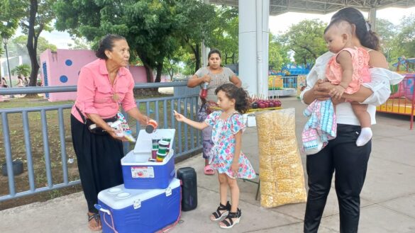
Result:
M153 139L170 138L170 152L162 162L149 161ZM140 130L133 151L121 159L125 188L167 188L175 177L175 151L172 149L175 130L156 130L148 134Z

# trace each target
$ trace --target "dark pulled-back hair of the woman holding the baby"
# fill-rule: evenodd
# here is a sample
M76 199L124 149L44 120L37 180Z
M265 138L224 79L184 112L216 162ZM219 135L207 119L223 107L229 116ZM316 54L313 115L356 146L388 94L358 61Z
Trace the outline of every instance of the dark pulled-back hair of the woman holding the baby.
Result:
M377 34L370 29L370 23L365 21L365 17L358 9L346 7L337 11L331 17L331 22L328 27L338 21L347 21L348 23L355 25L355 33L360 40L360 43L372 50L379 50L379 38L377 37Z

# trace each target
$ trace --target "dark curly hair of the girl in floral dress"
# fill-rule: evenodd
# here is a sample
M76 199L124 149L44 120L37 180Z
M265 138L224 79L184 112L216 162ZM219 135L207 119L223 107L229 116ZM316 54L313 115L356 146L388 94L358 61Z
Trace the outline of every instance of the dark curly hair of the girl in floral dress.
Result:
M246 113L249 108L248 93L242 87L235 84L222 84L215 90L215 94L217 95L219 91L225 92L229 99L235 99L235 109L239 113Z

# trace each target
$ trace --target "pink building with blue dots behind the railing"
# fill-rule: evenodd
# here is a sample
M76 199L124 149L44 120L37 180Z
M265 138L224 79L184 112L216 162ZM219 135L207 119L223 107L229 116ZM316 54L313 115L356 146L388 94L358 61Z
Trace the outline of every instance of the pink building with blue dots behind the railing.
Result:
M46 50L40 55L40 75L43 86L77 85L78 74L82 67L96 59L90 50ZM144 67L130 67L135 83L145 83L147 78ZM74 101L76 92L46 93L49 101Z

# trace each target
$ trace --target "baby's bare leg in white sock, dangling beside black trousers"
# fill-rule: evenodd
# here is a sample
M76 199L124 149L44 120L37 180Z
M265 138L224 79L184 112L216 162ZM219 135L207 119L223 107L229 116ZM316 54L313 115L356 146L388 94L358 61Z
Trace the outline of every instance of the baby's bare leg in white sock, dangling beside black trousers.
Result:
M352 103L352 108L356 117L360 121L360 126L362 127L358 140L356 140L356 145L361 147L372 139L373 134L372 129L370 129L372 124L370 120L370 114L367 113L366 104Z

